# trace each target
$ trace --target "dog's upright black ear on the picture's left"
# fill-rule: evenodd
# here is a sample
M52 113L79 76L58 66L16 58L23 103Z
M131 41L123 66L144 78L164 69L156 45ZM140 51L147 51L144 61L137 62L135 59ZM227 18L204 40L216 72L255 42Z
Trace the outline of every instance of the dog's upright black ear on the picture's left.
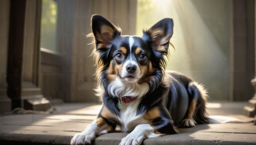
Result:
M92 16L91 25L97 49L108 48L113 38L121 35L121 29L100 15Z

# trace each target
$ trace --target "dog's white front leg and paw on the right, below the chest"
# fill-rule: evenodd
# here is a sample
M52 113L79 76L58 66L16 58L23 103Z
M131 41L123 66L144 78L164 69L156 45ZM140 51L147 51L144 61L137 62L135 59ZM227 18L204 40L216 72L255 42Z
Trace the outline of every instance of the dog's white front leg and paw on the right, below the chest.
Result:
M163 134L156 134L154 127L149 124L141 124L132 130L130 134L122 139L119 145L124 144L141 144L143 139L151 137L159 137Z

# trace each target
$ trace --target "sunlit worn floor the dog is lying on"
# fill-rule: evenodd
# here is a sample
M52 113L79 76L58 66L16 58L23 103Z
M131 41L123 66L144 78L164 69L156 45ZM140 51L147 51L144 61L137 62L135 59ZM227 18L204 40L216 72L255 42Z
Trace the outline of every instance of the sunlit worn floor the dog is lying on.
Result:
M211 102L207 111L250 120L243 116L247 102ZM0 116L0 144L70 144L70 139L96 118L100 104L65 103L52 106L51 112L17 109ZM119 144L127 133L97 137L94 144ZM218 123L182 128L179 134L145 139L143 144L256 144L253 123Z

